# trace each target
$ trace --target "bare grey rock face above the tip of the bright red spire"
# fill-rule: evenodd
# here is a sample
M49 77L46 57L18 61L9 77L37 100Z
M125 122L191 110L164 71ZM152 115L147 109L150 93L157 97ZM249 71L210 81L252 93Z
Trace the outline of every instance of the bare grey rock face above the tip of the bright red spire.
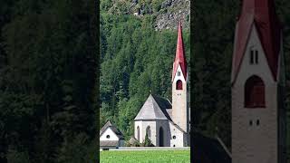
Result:
M176 29L181 19L184 28L189 28L190 2L189 0L166 0L161 5L157 15L155 29Z

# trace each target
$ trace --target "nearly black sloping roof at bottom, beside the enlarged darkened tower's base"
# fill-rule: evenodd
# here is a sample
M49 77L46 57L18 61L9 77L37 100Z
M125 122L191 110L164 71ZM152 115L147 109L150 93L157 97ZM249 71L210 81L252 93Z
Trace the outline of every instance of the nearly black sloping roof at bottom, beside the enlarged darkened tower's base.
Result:
M190 135L193 140L191 150L194 162L202 163L230 163L231 158L227 151L219 143L218 139L212 139L193 131Z

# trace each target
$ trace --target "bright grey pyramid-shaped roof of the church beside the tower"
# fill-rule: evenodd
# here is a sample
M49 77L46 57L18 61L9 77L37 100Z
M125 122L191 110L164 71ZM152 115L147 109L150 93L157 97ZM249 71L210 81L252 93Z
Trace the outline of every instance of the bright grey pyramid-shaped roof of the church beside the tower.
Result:
M171 120L166 109L170 109L168 100L150 94L134 120Z

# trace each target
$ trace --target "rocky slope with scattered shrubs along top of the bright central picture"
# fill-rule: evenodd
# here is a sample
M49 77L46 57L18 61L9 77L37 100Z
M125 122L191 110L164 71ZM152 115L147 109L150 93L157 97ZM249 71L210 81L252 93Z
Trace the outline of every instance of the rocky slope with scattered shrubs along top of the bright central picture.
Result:
M183 28L189 28L189 0L112 0L112 4L109 9L111 14L132 14L140 18L144 15L153 16L156 30L177 29L179 20Z

